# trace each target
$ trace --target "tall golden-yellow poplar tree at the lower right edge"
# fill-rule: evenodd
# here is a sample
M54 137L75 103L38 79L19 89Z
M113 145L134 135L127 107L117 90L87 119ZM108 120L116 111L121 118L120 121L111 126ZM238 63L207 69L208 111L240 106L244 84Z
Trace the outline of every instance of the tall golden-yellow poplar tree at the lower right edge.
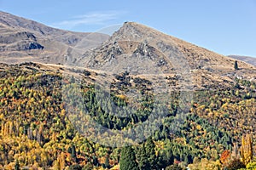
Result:
M253 159L252 134L242 135L240 154L241 154L241 161L245 165L247 165Z

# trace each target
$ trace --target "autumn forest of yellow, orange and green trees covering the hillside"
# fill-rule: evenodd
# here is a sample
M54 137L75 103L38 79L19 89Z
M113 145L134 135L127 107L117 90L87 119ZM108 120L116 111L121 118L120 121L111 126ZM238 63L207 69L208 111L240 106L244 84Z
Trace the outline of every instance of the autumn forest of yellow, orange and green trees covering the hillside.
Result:
M84 77L79 83L33 63L1 65L0 168L256 169L255 82L236 79L233 87L197 90L187 111L180 92L157 102L150 82L128 72L115 76L110 92L88 81L90 71L77 73ZM129 100L128 88L141 98ZM152 133L140 125L154 112L163 116L160 125L152 122L159 126ZM119 146L123 136L102 132L89 120L127 132L121 141L127 144Z

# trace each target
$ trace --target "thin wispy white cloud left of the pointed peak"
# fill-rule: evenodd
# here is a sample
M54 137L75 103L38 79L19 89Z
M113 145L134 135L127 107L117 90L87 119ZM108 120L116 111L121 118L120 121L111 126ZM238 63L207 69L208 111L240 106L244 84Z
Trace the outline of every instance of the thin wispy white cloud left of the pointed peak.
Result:
M83 14L74 16L69 20L62 20L61 22L54 23L52 26L73 28L81 25L105 25L111 20L117 20L121 14L121 11L104 11L94 12L90 14Z

